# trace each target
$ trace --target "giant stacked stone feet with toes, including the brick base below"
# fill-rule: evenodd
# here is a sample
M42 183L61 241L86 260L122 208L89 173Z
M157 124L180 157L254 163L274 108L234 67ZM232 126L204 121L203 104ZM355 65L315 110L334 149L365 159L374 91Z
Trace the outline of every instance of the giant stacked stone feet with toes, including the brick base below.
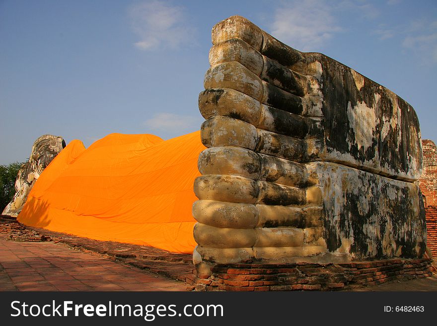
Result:
M197 288L348 288L430 275L414 109L240 16L215 25L212 42L199 95L207 149L194 184Z

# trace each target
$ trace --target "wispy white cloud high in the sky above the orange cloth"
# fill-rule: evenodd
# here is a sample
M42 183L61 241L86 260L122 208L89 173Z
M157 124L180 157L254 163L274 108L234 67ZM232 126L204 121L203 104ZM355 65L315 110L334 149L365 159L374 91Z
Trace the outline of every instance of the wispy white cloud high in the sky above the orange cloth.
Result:
M187 22L184 7L164 1L144 1L129 7L132 28L141 50L159 47L176 49L190 43L194 28ZM192 42L191 42L192 43Z

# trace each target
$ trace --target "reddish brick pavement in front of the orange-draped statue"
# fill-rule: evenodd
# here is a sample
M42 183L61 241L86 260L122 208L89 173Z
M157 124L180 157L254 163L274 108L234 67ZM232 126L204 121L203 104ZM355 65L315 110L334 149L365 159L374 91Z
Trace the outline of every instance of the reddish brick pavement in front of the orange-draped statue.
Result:
M52 242L13 242L0 234L0 290L186 291L187 284L100 254Z

